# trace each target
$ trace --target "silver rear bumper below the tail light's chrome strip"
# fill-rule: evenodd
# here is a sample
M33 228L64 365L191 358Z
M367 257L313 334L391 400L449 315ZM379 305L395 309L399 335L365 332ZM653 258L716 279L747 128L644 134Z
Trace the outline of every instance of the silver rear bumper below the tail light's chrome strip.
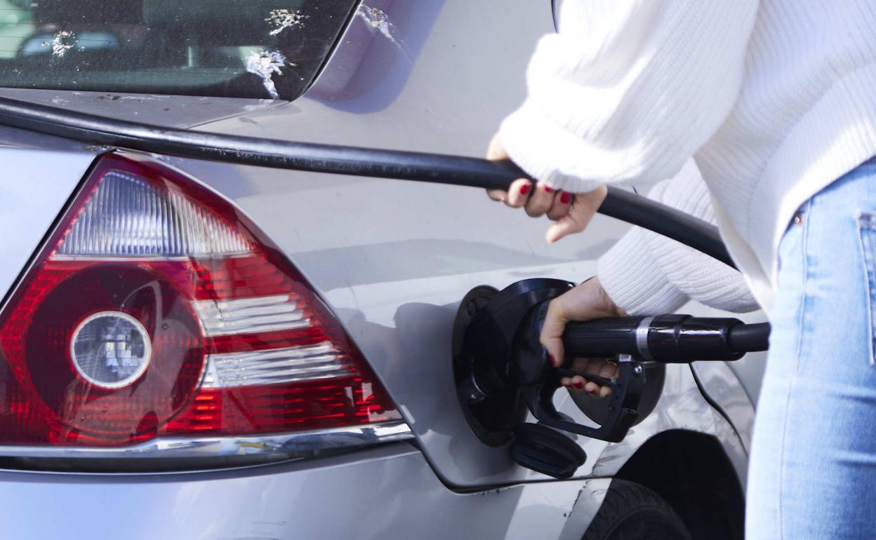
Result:
M584 484L458 494L420 452L396 443L223 472L2 472L0 523L19 540L556 538Z

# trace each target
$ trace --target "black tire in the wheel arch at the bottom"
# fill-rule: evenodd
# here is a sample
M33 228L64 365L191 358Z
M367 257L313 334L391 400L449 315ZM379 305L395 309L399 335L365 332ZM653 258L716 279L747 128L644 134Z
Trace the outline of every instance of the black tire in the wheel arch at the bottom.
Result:
M645 486L612 480L583 540L691 540L667 501Z

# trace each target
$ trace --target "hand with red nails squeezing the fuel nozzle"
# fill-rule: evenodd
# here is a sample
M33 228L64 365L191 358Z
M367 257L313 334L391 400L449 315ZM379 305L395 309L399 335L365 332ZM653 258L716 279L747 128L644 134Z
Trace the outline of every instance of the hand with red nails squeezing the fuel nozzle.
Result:
M591 277L571 291L551 300L544 325L541 326L541 345L548 350L550 361L556 367L562 365L562 332L566 324L576 320L603 319L605 317L624 317L626 313L609 298L599 283L598 277ZM618 375L618 364L605 358L576 358L572 369L601 375L607 378ZM566 388L586 391L591 396L605 397L611 389L596 382L588 382L581 375L562 377Z

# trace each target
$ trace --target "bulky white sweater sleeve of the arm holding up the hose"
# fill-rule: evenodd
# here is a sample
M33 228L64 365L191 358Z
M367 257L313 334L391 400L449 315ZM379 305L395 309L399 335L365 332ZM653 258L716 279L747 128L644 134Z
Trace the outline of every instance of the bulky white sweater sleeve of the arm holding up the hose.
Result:
M736 102L757 0L558 5L499 128L509 157L573 193L673 176Z

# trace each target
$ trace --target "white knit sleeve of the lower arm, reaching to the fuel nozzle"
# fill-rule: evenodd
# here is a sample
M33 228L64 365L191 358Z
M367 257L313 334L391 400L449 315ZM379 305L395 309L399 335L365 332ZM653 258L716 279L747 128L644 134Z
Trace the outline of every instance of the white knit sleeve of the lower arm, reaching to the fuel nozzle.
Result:
M691 159L649 199L715 223L709 191ZM632 228L597 262L609 297L633 315L668 313L693 299L731 312L758 308L742 274L696 249L643 228Z

